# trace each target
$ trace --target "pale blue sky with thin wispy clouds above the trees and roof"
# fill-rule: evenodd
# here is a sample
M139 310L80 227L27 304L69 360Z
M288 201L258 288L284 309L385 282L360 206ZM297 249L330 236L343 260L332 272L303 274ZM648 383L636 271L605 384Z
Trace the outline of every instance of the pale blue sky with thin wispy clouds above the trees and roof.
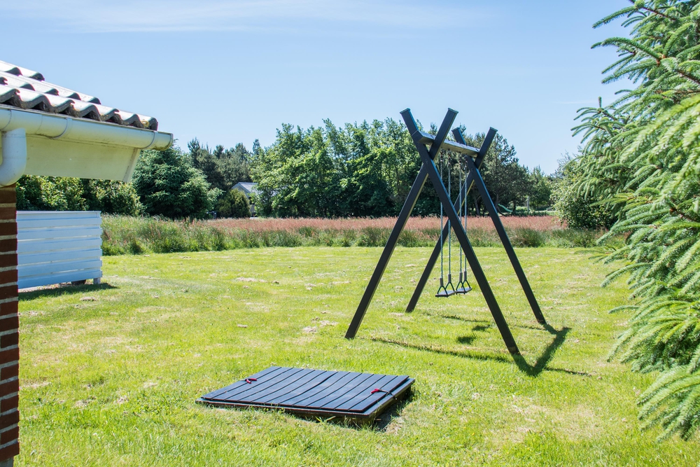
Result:
M622 86L601 85L615 53L590 46L624 32L591 25L628 4L24 0L0 3L0 60L155 116L181 146L267 146L281 123L398 120L406 107L429 125L451 107L468 132L495 127L553 172L580 143L576 109Z

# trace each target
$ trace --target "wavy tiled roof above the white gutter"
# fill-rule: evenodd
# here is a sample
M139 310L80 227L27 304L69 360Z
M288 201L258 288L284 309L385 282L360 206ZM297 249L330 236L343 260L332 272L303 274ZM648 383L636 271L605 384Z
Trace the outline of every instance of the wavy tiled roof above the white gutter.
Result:
M0 61L0 106L158 130L158 120L104 106L97 97L44 81L37 71Z

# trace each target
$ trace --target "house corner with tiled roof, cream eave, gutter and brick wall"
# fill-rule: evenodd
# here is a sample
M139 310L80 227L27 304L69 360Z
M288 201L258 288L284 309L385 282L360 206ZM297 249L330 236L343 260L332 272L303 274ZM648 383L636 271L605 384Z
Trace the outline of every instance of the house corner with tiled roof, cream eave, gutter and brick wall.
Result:
M22 174L129 181L144 149L173 135L158 120L102 105L0 62L0 467L20 452L19 319L15 182Z

